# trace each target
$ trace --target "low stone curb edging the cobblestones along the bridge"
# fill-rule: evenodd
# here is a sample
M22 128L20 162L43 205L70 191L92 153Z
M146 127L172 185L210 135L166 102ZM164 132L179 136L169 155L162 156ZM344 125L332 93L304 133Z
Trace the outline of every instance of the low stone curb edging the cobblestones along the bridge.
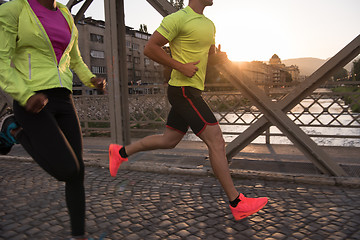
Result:
M30 157L19 156L0 156L0 160L20 160L20 161L32 161ZM99 159L85 159L86 166L95 166L107 168L108 163ZM121 165L122 170L140 171L140 172L154 172L163 174L182 174L182 175L194 175L194 176L214 176L214 173L210 167L202 168L185 168L171 164L158 164L135 161L125 162ZM355 177L331 177L311 174L286 174L280 172L264 172L264 171L252 171L241 169L230 169L231 176L240 179L258 179L268 181L284 181L299 184L314 184L314 185L328 185L328 186L342 186L350 188L360 188L360 178Z

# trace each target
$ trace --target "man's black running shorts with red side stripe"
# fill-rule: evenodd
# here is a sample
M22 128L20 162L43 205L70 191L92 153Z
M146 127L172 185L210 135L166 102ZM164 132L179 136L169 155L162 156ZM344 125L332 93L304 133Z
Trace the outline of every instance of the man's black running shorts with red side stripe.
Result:
M171 104L166 127L185 134L189 127L199 135L207 125L218 124L213 112L193 87L168 87Z

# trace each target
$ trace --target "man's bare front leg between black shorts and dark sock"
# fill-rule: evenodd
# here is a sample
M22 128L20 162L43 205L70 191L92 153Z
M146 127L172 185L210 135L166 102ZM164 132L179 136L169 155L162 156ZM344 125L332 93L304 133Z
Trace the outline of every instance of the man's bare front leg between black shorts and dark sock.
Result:
M199 135L209 149L211 167L230 201L239 196L230 175L225 153L225 141L219 125L208 125Z

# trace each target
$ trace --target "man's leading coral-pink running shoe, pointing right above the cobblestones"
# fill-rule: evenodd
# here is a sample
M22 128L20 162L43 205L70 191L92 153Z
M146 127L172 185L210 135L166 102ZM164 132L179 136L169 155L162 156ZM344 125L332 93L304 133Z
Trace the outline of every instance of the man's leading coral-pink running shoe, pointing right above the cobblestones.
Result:
M247 198L242 193L240 193L239 198L241 201L236 207L233 208L230 205L231 212L236 221L239 221L240 219L246 218L247 216L258 212L268 202L268 199L266 197Z

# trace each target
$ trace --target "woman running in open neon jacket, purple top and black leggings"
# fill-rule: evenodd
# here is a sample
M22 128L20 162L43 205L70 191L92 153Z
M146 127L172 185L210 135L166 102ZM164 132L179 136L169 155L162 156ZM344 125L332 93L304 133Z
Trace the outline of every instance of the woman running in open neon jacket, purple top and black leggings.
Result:
M71 70L99 90L105 79L83 62L74 19L55 0L1 5L0 39L0 87L14 99L14 116L1 127L0 152L19 142L46 172L65 182L72 238L86 239L82 134Z

